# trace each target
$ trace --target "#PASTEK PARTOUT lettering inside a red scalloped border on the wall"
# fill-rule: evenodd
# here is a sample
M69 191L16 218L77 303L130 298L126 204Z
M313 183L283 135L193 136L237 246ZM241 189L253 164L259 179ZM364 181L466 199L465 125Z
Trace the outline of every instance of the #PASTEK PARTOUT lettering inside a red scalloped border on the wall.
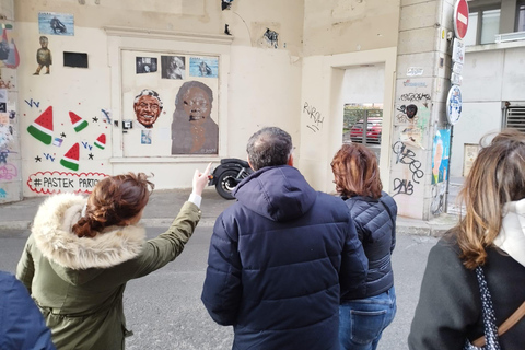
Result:
M37 172L27 178L27 187L37 194L63 191L90 194L95 185L109 175L103 173Z

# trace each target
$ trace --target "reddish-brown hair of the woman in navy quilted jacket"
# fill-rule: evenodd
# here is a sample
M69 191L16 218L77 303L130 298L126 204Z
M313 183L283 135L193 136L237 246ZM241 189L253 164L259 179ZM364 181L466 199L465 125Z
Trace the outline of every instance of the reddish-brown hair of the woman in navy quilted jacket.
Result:
M330 163L336 190L346 197L380 198L383 185L377 159L362 144L343 144Z

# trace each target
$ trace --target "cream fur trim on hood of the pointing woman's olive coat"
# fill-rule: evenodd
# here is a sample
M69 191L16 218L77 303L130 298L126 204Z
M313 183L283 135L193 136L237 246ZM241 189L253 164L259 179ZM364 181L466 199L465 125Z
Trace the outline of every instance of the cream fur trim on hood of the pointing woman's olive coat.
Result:
M55 270L108 268L136 258L143 249L145 230L140 225L112 226L93 238L79 238L71 228L81 218L86 202L84 196L60 194L49 197L38 208L32 233ZM63 278L67 271L61 272Z

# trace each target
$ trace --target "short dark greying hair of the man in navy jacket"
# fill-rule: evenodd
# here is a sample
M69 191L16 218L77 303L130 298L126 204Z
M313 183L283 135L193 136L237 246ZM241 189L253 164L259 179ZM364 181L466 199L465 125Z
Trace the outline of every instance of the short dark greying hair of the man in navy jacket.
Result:
M265 166L285 165L292 151L292 137L277 127L266 127L248 140L246 152L255 171Z

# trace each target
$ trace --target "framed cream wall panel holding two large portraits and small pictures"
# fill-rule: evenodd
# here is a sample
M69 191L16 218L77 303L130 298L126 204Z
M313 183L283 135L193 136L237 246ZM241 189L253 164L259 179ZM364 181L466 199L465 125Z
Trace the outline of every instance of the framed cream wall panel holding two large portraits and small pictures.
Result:
M155 60L156 73L139 72ZM121 63L124 156L219 154L219 57L125 49Z

